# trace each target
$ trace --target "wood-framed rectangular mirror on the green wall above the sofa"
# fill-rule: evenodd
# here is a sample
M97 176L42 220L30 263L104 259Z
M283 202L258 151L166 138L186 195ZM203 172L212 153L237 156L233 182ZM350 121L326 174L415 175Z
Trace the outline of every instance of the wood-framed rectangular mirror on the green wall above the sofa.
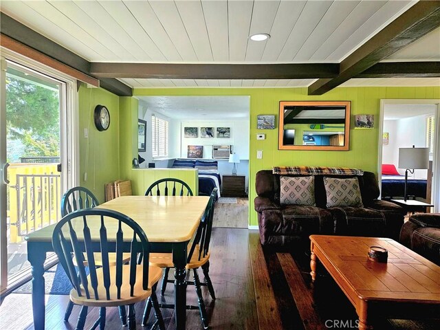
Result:
M348 151L350 101L281 101L279 150Z

